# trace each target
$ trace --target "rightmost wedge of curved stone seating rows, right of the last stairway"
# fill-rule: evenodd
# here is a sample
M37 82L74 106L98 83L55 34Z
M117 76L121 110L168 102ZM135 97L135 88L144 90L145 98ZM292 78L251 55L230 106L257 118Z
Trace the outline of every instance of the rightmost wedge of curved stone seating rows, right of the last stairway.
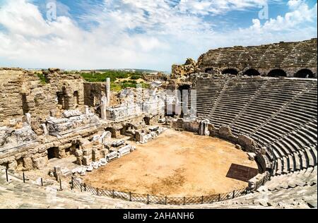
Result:
M310 100L308 95L310 95ZM305 100L306 97L307 100ZM300 111L297 109L298 107L306 109ZM317 156L314 155L315 150L312 149L317 143L317 128L309 127L314 122L317 123L317 85L303 92L300 97L293 100L273 119L254 132L262 143L272 143L274 155L281 162L281 167L276 168L276 174L317 164ZM266 135L266 139L264 139L264 135ZM303 150L305 155L300 155L300 150ZM302 159L305 159L306 162L302 162Z

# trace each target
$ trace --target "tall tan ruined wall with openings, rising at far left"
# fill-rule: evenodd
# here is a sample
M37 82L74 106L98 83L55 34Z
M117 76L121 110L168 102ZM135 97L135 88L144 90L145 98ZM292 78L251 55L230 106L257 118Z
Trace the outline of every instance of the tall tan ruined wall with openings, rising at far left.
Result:
M41 121L50 111L83 107L80 76L59 69L43 73L45 83L31 71L0 68L0 125L8 126L9 120L23 119L26 113L31 114L33 121Z

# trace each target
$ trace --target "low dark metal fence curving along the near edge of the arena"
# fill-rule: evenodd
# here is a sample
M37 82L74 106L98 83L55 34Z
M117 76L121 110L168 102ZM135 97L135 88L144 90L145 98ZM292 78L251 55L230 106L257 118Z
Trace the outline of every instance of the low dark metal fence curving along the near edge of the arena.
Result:
M242 188L239 190L231 191L228 193L219 193L214 195L202 195L199 197L168 197L168 196L157 196L157 195L145 195L140 193L132 192L122 192L114 190L106 190L101 188L94 188L93 186L86 185L86 183L81 183L75 179L71 180L71 189L76 188L81 190L81 192L86 191L93 195L105 196L108 198L117 198L121 200L139 202L146 204L156 204L156 205L196 205L196 204L211 204L223 200L230 200L233 198L238 198L242 195L247 195L252 191L257 190L260 186L263 186L269 178L264 176L263 179L257 181L253 188Z

